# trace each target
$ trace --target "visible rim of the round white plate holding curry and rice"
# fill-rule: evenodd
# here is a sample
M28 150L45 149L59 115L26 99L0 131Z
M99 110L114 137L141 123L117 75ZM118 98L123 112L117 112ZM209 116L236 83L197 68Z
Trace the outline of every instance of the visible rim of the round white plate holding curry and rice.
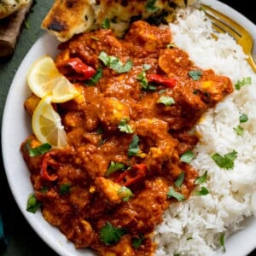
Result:
M202 2L212 5L214 9L222 11L245 26L252 33L256 42L256 27L245 16L216 0L202 0ZM72 242L67 241L66 237L58 229L44 220L41 212L35 214L26 212L27 196L33 191L30 173L20 154L20 144L31 131L30 118L23 108L23 102L25 102L26 97L30 94L26 85L26 73L32 62L37 60L38 57L45 54L54 56L56 54L56 45L55 38L52 38L49 34L39 38L32 49L29 50L15 74L3 111L3 164L15 201L27 222L31 224L32 229L38 233L38 236L61 256L90 256L94 255L94 253L91 253L89 250L75 249ZM256 50L254 50L254 55L256 55ZM249 219L246 225L247 228L245 230L241 230L226 241L227 253L224 254L225 256L244 256L256 247L256 219Z

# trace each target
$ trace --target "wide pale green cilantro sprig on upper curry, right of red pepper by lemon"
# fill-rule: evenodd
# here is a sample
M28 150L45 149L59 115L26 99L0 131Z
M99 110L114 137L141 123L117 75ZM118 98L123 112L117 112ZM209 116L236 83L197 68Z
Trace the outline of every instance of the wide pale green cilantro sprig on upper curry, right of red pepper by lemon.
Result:
M126 61L124 64L119 58L115 56L109 56L106 52L102 51L99 55L99 59L104 63L105 66L113 69L116 73L126 73L131 70L133 65L131 60Z

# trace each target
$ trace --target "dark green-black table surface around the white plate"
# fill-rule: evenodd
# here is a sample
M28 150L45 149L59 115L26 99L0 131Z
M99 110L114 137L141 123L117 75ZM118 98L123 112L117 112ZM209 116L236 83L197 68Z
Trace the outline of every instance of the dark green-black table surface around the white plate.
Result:
M34 1L32 10L26 19L26 26L24 26L21 31L15 54L9 61L0 63L0 120L2 120L4 102L8 94L9 85L14 78L15 71L32 44L34 44L44 33L40 28L40 24L53 2L53 0ZM245 15L247 19L252 20L253 23L256 24L253 1L237 0L235 2L234 0L223 0L222 2L227 3L233 9L238 10L242 15ZM3 251L0 251L0 255L57 256L57 254L32 230L30 225L26 222L26 219L20 213L20 210L11 195L5 177L2 158L0 158L0 165L0 212L2 212L8 239L8 247ZM256 253L256 251L254 253Z

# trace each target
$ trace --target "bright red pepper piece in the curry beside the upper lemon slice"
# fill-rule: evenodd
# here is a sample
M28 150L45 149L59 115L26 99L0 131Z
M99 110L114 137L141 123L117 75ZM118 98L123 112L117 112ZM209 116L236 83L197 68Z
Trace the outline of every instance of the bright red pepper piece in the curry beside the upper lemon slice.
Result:
M91 79L96 73L93 67L87 66L77 57L62 61L61 64L58 65L58 68L67 78L77 81Z

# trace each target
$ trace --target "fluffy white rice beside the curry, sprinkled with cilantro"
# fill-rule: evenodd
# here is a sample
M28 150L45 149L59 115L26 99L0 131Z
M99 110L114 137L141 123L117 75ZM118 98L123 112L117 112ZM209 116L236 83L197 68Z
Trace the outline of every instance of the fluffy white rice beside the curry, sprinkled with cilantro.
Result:
M212 68L230 77L233 84L245 77L252 84L235 90L216 108L210 109L196 126L201 141L195 148L192 166L202 175L207 171L208 195L191 195L188 201L173 203L164 221L156 228L157 256L213 255L219 250L220 236L225 239L241 229L241 221L256 216L256 76L248 66L246 55L233 38L218 34L212 38L211 21L197 9L180 10L177 22L170 25L174 43L184 49L202 68ZM248 121L240 124L246 113ZM241 125L244 135L234 127ZM214 153L237 151L232 170L219 168L211 158ZM254 201L254 208L253 208Z

